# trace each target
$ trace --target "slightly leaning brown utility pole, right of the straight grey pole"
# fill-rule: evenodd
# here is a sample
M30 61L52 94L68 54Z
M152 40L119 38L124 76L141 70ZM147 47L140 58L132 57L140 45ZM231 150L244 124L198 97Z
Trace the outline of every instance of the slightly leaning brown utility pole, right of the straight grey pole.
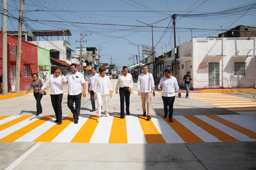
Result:
M21 51L22 14L23 14L23 0L20 0L19 26L18 26L18 45L17 45L16 74L15 74L15 92L16 93L19 93L19 85L20 85L20 55L22 53L22 51Z

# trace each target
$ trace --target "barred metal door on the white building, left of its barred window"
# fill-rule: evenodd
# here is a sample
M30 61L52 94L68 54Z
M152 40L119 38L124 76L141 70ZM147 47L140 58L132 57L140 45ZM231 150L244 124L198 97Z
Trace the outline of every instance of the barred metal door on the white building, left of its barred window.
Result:
M218 62L209 62L208 87L219 88L219 63Z

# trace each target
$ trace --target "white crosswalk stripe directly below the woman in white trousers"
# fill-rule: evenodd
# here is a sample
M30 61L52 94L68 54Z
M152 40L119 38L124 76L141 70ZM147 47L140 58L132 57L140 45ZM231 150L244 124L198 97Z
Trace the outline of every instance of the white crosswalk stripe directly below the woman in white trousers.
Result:
M109 143L109 136L112 128L113 116L106 117L103 115L98 123L90 143Z

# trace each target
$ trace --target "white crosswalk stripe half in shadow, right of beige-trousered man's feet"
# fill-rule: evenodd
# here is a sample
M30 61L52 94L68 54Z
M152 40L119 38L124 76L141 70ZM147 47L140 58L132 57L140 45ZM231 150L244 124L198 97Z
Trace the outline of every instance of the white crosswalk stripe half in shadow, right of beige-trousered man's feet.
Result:
M160 116L151 116L157 130L166 143L185 143L184 140Z

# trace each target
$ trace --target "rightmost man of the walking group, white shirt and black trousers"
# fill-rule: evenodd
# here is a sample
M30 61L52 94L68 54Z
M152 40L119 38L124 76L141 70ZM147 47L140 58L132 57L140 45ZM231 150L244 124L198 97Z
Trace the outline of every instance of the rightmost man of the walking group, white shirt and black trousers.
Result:
M180 88L175 77L171 76L171 71L165 69L165 77L162 77L158 89L162 89L162 100L163 100L163 110L165 112L164 118L168 115L169 107L169 122L173 122L173 103L175 100L175 89L178 92L178 97L181 97Z

